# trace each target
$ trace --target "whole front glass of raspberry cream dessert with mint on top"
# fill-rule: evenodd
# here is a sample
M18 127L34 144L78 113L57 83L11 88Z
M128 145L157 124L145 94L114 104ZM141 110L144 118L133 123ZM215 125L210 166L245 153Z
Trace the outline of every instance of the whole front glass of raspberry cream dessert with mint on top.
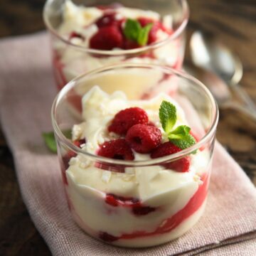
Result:
M196 78L153 64L93 70L60 90L52 122L68 207L87 234L149 247L203 214L218 107Z

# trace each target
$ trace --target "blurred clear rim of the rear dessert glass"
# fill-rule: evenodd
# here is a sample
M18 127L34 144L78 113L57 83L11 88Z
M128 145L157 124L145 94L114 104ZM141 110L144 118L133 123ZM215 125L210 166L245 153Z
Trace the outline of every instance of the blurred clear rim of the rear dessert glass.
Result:
M186 25L188 23L188 18L189 18L188 2L186 0L179 0L179 1L181 1L184 18L183 18L183 21L181 22L181 24L178 26L178 28L176 28L174 33L172 33L171 36L168 36L166 39L156 42L156 43L152 43L149 46L143 46L141 48L134 48L134 49L129 49L129 50L95 50L95 49L86 48L85 46L78 46L75 43L71 43L67 39L63 38L63 36L60 36L58 31L56 31L55 28L53 28L53 26L51 26L51 23L48 19L48 15L47 15L47 8L50 5L50 3L53 1L55 1L55 0L47 0L46 4L43 6L43 21L46 25L46 28L48 29L48 31L50 31L50 33L52 33L54 36L56 36L58 39L60 39L60 41L63 41L63 43L68 44L69 46L72 46L73 48L76 48L77 50L82 50L86 53L114 55L115 56L115 55L127 55L127 54L132 55L134 53L142 53L146 50L154 50L155 48L164 46L169 41L173 41L178 36L180 36L181 33L185 30Z

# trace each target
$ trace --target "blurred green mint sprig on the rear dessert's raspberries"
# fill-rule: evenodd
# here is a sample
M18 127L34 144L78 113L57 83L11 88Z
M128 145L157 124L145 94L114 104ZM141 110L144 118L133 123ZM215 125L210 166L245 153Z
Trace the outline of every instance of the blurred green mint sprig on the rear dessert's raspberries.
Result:
M142 27L139 21L128 18L124 25L124 36L137 42L139 46L146 46L146 43L149 40L149 31L152 26L153 23L149 23Z

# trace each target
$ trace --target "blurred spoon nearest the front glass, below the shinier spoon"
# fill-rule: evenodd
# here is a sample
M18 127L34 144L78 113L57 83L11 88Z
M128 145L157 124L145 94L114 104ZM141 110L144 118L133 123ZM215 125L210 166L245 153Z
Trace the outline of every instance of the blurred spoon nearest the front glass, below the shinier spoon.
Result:
M233 95L225 81L206 69L196 67L196 65L185 65L184 70L203 82L212 92L218 106L221 108L232 108L239 110L248 117L256 121L256 112L251 111L248 107L241 105L233 99Z

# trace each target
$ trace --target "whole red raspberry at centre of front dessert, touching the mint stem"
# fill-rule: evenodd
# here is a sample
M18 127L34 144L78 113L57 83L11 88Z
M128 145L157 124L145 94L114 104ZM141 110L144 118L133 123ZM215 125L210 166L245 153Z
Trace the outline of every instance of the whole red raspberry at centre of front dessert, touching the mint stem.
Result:
M149 153L161 143L161 131L151 125L135 124L128 130L125 139L138 153Z

